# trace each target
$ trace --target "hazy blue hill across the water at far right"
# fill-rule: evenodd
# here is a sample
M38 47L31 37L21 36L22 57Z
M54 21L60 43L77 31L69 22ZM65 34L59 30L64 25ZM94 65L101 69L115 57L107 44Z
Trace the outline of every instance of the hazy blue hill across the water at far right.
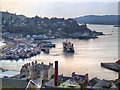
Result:
M104 16L87 15L73 19L76 20L78 23L118 25L118 15L104 15Z

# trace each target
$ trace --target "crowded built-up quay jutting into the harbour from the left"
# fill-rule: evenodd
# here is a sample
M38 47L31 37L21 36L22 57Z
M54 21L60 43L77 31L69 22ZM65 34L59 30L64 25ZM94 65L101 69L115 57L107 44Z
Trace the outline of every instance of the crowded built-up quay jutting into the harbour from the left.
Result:
M30 41L27 39L15 39L14 43L7 45L1 52L0 60L19 60L36 56L43 51L49 54L51 48L55 48L55 44L48 41Z

